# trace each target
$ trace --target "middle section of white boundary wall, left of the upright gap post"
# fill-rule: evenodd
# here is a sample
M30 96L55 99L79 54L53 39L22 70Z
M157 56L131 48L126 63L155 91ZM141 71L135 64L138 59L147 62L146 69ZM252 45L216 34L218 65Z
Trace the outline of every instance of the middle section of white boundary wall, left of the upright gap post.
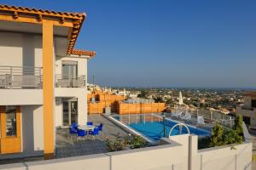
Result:
M181 135L188 141L189 135ZM169 144L167 144L169 143ZM125 150L108 153L111 170L170 170L188 169L188 144L178 144L169 140L165 145L143 148L138 150Z

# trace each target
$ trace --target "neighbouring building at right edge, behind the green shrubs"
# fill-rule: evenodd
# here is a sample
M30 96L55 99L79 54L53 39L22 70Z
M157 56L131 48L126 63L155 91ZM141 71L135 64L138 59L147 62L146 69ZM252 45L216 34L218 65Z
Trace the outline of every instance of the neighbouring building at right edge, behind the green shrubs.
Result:
M244 104L236 106L236 115L241 114L243 122L256 127L256 91L243 94Z

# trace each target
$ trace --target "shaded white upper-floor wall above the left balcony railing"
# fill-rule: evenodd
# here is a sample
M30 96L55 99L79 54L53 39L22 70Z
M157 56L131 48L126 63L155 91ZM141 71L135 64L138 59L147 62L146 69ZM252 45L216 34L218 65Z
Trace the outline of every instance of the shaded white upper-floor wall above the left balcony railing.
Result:
M0 65L42 67L42 36L0 31Z

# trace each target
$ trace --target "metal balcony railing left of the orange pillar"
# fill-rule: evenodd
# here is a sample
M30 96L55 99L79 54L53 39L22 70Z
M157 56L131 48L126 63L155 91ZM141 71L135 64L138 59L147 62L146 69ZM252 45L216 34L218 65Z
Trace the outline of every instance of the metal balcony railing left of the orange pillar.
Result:
M0 66L0 88L42 88L42 68Z

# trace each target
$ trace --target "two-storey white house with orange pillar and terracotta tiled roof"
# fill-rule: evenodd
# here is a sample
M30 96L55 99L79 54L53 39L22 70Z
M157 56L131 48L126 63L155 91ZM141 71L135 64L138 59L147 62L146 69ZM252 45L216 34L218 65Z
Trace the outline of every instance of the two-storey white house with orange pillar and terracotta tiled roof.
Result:
M85 14L0 5L0 159L55 152L55 127L87 122Z

